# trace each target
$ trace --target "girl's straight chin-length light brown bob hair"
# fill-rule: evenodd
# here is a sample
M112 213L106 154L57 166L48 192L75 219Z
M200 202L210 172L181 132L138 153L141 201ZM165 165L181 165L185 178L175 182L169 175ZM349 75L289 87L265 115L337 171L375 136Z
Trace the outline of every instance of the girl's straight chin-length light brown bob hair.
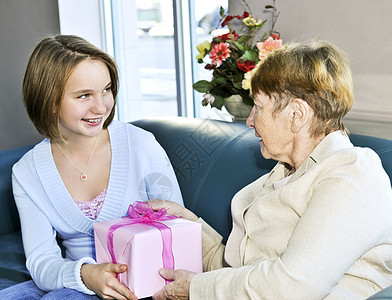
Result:
M23 78L23 102L35 128L49 139L63 140L58 112L64 86L75 67L84 60L100 61L108 67L115 106L118 93L116 63L108 54L83 38L74 35L45 38L30 56ZM114 106L104 128L114 118Z

